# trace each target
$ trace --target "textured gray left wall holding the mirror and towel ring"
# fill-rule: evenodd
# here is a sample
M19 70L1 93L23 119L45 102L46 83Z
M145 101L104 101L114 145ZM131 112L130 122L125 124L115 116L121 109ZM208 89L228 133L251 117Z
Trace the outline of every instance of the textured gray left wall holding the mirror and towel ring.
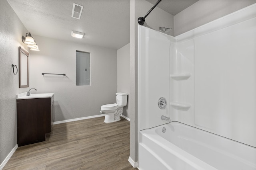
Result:
M0 1L0 164L17 144L16 94L19 76L12 72L18 66L18 47L26 49L21 41L28 32L6 0ZM26 49L28 51L28 49ZM29 51L28 51L29 52ZM30 57L29 57L30 58Z

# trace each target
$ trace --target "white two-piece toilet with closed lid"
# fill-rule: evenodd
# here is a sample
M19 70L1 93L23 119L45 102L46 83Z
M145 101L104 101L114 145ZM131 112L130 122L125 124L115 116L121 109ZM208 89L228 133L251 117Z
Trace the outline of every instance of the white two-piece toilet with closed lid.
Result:
M116 103L106 104L101 106L100 113L105 115L105 123L112 123L120 121L120 116L123 113L123 107L127 104L127 95L126 93L116 93Z

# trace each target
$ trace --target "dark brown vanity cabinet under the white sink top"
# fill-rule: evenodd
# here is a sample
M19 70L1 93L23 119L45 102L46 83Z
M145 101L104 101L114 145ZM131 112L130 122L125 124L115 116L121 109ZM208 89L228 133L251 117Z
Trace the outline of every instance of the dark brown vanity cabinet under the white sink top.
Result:
M54 122L54 95L16 101L18 146L45 141Z

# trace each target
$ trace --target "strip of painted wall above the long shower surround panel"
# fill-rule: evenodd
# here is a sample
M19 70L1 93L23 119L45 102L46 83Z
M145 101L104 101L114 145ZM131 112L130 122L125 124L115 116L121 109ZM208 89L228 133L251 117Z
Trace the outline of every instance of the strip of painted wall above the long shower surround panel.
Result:
M174 16L175 36L254 3L256 0L199 0Z

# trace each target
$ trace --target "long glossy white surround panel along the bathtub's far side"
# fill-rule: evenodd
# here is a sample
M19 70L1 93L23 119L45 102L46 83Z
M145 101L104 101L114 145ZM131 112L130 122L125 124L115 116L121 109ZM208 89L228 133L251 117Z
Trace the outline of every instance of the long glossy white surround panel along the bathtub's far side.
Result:
M191 76L172 81L172 100L191 107L172 119L256 147L255 23L256 4L176 37L171 74Z

